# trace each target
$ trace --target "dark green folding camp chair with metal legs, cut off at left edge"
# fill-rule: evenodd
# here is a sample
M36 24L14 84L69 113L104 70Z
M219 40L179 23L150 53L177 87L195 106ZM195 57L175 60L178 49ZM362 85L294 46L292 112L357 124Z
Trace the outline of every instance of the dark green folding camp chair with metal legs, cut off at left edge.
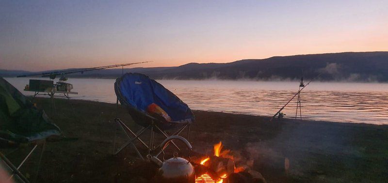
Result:
M31 157L38 147L39 141L45 141L49 136L60 135L60 129L51 122L43 110L38 110L14 86L0 77L0 150L18 147L18 144L32 144L32 150L16 167L2 152L0 164L8 168L10 179L29 183L19 168ZM43 143L42 152L45 144ZM40 163L40 162L39 162Z

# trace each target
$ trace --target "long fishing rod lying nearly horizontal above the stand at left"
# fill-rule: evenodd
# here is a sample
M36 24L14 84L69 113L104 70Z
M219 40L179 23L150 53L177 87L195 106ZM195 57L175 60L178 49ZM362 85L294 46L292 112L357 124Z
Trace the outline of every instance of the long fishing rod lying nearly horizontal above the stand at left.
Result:
M20 75L16 77L28 77L28 76L42 76L42 77L53 77L57 75L66 75L66 74L73 74L73 73L83 73L87 71L93 71L93 70L100 70L100 69L107 69L107 68L113 68L113 67L120 67L120 66L128 66L133 64L139 64L139 63L146 63L151 61L142 61L142 62L135 62L135 63L124 63L124 64L115 64L115 65L107 65L107 66L100 66L100 67L92 67L92 68L84 68L84 69L74 69L69 71L55 71L55 72L49 72L49 73L40 73L40 74L31 74L31 75Z

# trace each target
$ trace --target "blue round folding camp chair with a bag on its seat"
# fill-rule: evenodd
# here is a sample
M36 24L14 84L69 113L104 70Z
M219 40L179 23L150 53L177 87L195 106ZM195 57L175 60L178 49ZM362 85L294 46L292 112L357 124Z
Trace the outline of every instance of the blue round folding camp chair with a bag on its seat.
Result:
M146 75L127 73L116 79L114 91L117 96L117 106L120 101L120 104L128 109L132 120L141 126L140 130L134 132L122 120L119 118L115 119L115 122L117 122L121 130L128 137L128 141L115 150L114 154L131 145L139 157L144 159L144 155L152 154L158 156L162 152L161 144L154 146L154 137L156 134L167 138L170 135L179 135L187 128L187 138L189 138L190 125L195 120L193 112L174 93L168 91L155 80L150 79ZM171 117L171 121L148 114L147 107L151 104L156 104L161 107ZM167 134L167 130L175 131L169 135ZM140 137L146 131L150 131L148 144ZM146 154L142 154L139 148L136 147L134 144L135 140L146 147ZM179 150L175 143L172 144Z

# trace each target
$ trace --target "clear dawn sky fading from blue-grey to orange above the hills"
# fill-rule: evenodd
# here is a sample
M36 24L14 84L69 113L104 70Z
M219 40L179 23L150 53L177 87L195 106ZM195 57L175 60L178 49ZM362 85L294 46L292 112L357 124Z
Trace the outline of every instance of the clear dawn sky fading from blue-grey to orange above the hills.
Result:
M388 0L0 0L0 69L388 51Z

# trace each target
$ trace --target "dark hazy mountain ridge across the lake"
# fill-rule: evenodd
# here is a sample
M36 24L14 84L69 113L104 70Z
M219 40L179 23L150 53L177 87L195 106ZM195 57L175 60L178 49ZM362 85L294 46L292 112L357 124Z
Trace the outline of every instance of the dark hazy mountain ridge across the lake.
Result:
M229 63L188 63L176 67L130 68L156 79L249 79L293 80L302 76L322 81L388 82L388 51L343 52L267 59L246 59ZM0 76L16 76L23 71L0 70ZM32 72L24 72L32 73ZM106 69L72 74L69 77L115 78L121 69Z

